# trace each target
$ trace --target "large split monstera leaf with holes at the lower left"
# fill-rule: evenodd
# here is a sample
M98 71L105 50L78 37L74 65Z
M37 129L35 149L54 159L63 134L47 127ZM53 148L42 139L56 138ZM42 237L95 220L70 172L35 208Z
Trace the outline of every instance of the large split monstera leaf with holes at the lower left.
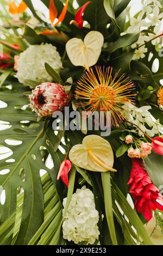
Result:
M43 124L37 123L35 113L28 108L29 101L23 96L26 90L21 84L12 83L12 86L3 86L0 92L1 99L7 103L7 107L1 109L0 119L9 122L9 129L0 132L0 144L10 152L10 156L0 162L0 185L1 191L5 193L5 203L0 204L1 224L15 212L17 195L24 191L21 225L15 240L16 245L26 245L43 222L40 170L49 172L55 182L57 170L64 158L60 151L54 153L55 143L58 141L51 126L44 132ZM41 149L46 149L51 154L55 170L46 167L42 161ZM61 198L62 193L59 194ZM7 233L2 235L1 241ZM10 244L11 240L12 234L5 243Z

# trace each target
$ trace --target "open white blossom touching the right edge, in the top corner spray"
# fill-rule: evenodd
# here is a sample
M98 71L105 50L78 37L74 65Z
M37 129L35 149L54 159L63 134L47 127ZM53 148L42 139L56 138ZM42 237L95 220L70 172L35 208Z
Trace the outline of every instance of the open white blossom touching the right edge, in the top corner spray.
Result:
M148 7L147 18L149 21L151 21L152 26L156 26L161 23L160 20L163 18L163 13L160 14L158 6L154 7L152 13L150 13L151 9L151 7Z

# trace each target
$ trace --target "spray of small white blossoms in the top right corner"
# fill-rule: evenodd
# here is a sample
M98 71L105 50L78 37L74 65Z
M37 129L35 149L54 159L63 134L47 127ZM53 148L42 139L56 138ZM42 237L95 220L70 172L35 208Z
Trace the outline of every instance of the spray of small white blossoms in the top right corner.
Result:
M128 33L139 33L143 29L149 29L149 27L153 27L153 32L148 33L140 33L139 40L133 44L131 47L135 48L137 45L143 45L145 42L150 41L156 37L156 35L161 34L161 27L163 25L163 13L160 13L160 9L162 8L161 4L157 0L141 0L142 2L142 11L137 17L133 17L130 20L130 26L127 29ZM153 45L157 45L161 43L161 36L152 40ZM145 53L147 52L147 48L145 45L137 48L134 53L134 60L138 60L140 58L145 58Z

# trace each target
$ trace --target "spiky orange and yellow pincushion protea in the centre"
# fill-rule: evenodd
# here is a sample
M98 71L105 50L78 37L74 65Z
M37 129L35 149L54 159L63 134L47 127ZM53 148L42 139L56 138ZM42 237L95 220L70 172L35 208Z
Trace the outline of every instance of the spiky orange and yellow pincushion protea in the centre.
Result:
M110 112L111 124L108 125L111 127L118 126L124 119L121 104L134 103L134 94L131 94L134 83L128 77L125 78L125 74L117 78L119 72L120 70L112 77L112 67L96 66L96 76L90 68L80 78L76 88L77 105L90 113L104 111L106 115Z

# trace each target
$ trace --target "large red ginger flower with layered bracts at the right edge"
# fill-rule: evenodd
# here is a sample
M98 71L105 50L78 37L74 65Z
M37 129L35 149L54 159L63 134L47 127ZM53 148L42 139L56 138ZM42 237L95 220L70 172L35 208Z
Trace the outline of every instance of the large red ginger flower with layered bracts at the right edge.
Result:
M163 211L163 205L156 201L156 199L163 199L163 197L143 168L142 160L132 159L131 161L131 175L128 181L128 185L131 185L130 193L135 199L135 209L139 213L142 212L148 222L152 218L152 210Z

